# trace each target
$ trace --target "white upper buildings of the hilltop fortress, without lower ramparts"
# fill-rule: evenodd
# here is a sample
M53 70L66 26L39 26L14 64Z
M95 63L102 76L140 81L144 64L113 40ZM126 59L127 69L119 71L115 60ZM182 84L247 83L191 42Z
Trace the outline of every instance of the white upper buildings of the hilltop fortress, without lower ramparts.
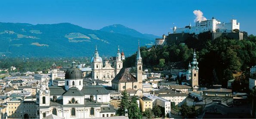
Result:
M195 26L186 26L185 28L177 28L173 27L173 33L195 33L196 35L199 33L210 31L212 33L232 33L235 29L239 30L240 24L236 22L236 19L231 19L230 23L224 23L216 20L215 18L197 21Z

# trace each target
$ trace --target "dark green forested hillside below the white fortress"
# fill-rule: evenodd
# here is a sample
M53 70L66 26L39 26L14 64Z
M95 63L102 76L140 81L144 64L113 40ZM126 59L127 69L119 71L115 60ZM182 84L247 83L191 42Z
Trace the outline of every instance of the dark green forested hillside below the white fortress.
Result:
M201 84L222 84L226 87L227 81L234 79L233 74L242 72L245 76L242 78L248 78L249 67L256 65L256 36L250 35L247 40L240 41L220 37L214 41L194 39L189 45L173 43L151 48L141 47L143 66L161 70L168 67L171 62L184 61L189 64L192 60L192 48L195 46L200 46L200 48L196 47L196 53ZM136 54L133 54L126 58L124 65L135 66L135 59ZM248 85L244 84L243 87L248 88Z

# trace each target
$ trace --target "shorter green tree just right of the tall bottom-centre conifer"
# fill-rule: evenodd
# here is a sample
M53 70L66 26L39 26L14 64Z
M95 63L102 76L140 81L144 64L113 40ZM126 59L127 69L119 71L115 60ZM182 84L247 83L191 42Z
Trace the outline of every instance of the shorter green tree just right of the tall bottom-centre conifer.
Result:
M142 119L142 113L138 107L136 96L131 97L130 106L128 108L128 117L130 119Z

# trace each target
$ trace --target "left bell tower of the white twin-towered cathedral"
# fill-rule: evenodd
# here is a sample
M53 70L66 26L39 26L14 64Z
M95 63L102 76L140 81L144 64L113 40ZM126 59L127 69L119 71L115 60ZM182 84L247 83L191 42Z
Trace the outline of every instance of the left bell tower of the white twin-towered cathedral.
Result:
M102 66L103 66L103 63L102 63L102 58L99 57L99 54L98 54L98 50L97 50L97 46L96 46L96 49L95 49L95 52L94 52L94 55L92 57L92 60L91 60L91 68L92 68L92 79L102 79Z

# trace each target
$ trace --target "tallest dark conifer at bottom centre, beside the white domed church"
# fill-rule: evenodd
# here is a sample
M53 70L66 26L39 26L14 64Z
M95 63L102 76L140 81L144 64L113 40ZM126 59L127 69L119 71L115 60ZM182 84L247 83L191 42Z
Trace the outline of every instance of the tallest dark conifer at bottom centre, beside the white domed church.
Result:
M128 107L130 106L130 101L128 101L128 93L126 90L124 90L122 93L122 99L121 103L119 104L119 109L117 110L117 114L120 116L125 116L125 109L128 110Z

